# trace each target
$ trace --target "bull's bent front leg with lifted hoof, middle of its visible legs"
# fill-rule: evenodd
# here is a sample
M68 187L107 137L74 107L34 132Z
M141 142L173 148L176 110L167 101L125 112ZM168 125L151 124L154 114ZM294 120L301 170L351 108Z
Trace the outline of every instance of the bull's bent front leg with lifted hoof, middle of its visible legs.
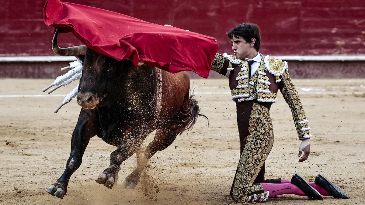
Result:
M143 131L143 128L138 127L130 133L133 133L134 136L132 137L129 135L129 137L124 139L121 143L122 146L110 154L110 165L98 176L96 179L97 183L103 184L111 189L116 183L122 162L130 158L130 156L136 152L137 148L141 146L143 140L146 139L146 136L150 134L151 131Z

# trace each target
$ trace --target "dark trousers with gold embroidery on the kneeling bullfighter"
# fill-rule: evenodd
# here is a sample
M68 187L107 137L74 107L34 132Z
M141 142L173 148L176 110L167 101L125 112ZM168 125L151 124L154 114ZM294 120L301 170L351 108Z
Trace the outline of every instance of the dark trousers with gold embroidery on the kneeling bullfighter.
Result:
M242 154L231 187L231 197L235 202L248 202L260 198L262 200L266 196L262 185L254 182L263 182L265 170L262 168L274 143L269 109L253 101L242 103L237 104ZM262 177L258 177L259 174Z

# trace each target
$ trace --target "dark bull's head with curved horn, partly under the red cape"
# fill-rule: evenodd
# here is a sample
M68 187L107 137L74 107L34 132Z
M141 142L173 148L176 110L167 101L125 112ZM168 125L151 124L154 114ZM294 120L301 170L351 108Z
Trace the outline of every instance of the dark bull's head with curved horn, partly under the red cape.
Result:
M55 31L52 49L61 56L75 55L83 62L82 77L78 87L77 104L83 108L94 109L105 96L107 91L115 89L120 84L120 72L124 61L99 54L87 46L61 48L57 45L57 29Z

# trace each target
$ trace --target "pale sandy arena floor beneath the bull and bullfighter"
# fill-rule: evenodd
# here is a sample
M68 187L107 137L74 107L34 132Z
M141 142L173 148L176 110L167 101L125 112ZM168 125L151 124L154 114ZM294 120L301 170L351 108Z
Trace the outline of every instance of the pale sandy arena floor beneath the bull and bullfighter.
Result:
M144 185L120 184L136 166L135 155L122 164L119 185L95 182L115 150L94 137L81 167L72 175L63 200L46 193L64 171L80 107L73 100L57 114L63 97L35 95L52 80L0 79L0 204L232 204L231 183L239 159L235 104L226 79L191 80L201 113L195 127L178 136L150 161ZM365 80L294 80L310 120L311 155L298 163L299 140L290 109L281 94L272 105L275 142L266 160L266 178L290 179L299 173L314 181L322 173L350 194L348 200L310 201L294 195L266 204L364 204ZM52 94L65 94L72 87ZM146 142L150 142L150 135ZM145 143L146 143L145 142ZM151 188L152 187L152 188ZM156 193L157 188L159 192ZM152 190L151 190L152 189ZM362 193L362 194L361 194ZM157 200L157 201L156 201Z

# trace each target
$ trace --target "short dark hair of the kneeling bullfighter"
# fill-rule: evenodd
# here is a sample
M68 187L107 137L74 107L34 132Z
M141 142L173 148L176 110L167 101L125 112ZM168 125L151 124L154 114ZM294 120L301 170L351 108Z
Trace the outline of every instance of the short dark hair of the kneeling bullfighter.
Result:
M255 38L254 48L260 50L260 28L254 23L241 23L227 32L230 39L242 37L246 42L251 42L251 38Z

